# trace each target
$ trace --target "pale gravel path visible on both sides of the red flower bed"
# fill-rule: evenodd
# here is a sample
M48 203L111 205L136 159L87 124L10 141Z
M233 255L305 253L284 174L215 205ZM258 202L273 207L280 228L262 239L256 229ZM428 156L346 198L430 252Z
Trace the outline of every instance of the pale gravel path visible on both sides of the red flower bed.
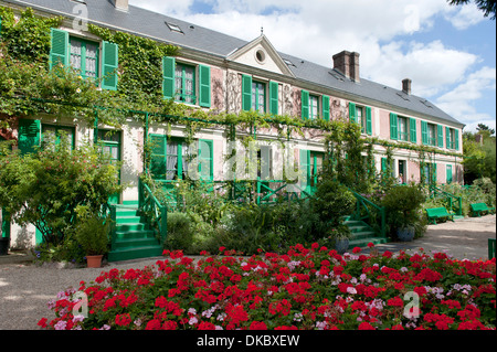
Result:
M466 217L438 225L430 225L423 238L411 243L379 245L380 252L400 249L446 250L455 258L486 259L488 238L496 237L496 215ZM161 258L110 263L103 268L63 269L54 266L32 265L31 257L22 254L0 256L0 330L38 330L38 321L53 313L46 303L59 291L91 282L102 271L112 268L144 268Z

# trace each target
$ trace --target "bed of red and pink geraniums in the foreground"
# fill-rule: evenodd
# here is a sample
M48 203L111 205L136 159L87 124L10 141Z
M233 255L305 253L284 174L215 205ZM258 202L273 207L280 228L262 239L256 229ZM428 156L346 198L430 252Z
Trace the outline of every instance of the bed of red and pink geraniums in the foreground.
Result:
M372 245L371 245L372 246ZM496 326L495 258L456 260L385 252L339 255L296 245L287 254L193 260L179 250L144 269L102 273L50 305L47 329L480 330ZM84 294L84 295L83 295ZM86 305L87 313L77 308ZM83 311L83 310L82 310ZM85 317L86 316L86 317Z

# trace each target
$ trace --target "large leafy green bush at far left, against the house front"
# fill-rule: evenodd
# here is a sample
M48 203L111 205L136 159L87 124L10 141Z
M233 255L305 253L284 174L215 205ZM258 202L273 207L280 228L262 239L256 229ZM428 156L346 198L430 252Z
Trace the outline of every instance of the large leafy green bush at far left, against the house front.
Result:
M34 224L53 245L63 243L78 205L102 212L109 196L123 190L117 166L97 146L85 142L71 150L68 138L59 140L24 156L0 148L0 207L19 225Z

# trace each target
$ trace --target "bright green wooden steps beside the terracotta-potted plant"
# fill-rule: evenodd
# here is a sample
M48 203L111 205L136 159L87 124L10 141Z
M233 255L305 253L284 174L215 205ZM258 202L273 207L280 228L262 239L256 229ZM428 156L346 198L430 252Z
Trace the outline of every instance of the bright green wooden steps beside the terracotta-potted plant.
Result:
M162 255L162 245L150 228L148 221L140 216L138 201L117 204L115 230L108 262L120 262Z

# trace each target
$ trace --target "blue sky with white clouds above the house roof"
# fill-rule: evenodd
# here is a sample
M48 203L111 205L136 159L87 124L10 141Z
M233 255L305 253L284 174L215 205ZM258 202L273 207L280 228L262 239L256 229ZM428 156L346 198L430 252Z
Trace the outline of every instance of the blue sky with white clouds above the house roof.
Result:
M184 21L332 66L360 53L361 77L427 98L475 131L496 129L496 21L446 0L129 0Z

